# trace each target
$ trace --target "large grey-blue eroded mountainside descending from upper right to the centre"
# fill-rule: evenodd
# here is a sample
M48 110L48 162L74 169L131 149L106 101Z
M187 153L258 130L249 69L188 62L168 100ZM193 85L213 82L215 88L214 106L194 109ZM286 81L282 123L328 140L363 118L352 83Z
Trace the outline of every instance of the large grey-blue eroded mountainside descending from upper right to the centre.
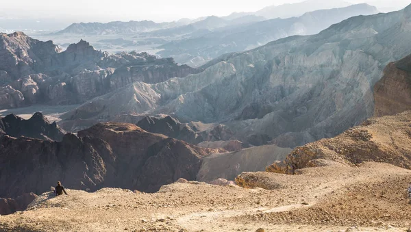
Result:
M411 6L356 16L313 36L229 53L203 66L202 73L135 82L66 118L161 113L184 123L221 123L233 132L226 140L261 138L281 147L336 136L373 115L372 88L384 66L411 53L410 16Z

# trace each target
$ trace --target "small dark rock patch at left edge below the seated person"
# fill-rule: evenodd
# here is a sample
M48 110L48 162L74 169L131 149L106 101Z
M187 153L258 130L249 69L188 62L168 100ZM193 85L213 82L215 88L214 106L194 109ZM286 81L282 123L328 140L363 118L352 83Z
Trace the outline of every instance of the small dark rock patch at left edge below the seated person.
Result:
M0 216L13 214L16 211L24 211L37 197L34 193L23 194L17 198L0 198Z

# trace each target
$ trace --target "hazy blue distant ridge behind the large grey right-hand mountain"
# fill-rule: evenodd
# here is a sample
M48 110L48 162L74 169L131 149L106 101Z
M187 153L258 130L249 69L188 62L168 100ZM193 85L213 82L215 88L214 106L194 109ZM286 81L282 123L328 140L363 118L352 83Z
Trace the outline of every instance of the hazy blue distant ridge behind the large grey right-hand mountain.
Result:
M377 8L363 3L346 8L317 10L299 17L275 18L238 27L222 28L204 36L164 44L160 46L160 49L164 50L158 54L164 57L175 57L179 63L197 65L199 63L192 63L195 57L211 60L224 53L253 49L279 38L317 34L330 25L349 17L377 12Z

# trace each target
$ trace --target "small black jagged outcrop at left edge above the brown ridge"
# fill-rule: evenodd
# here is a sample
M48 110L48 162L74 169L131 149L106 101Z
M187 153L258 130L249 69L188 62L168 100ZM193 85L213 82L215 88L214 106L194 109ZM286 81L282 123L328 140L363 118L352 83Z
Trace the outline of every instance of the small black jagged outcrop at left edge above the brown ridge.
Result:
M0 130L12 137L25 136L40 140L61 141L66 133L55 122L49 123L49 120L41 113L34 114L28 120L9 114L0 118L0 122Z

